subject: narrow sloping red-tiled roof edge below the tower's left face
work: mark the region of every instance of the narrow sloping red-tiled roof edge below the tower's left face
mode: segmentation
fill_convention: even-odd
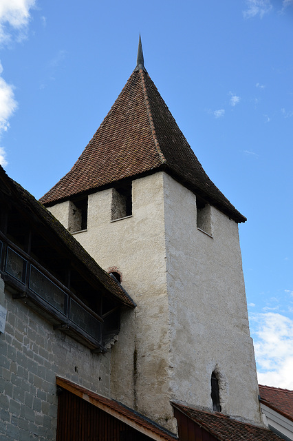
[[[135,412],[133,409],[129,409],[129,407],[124,406],[124,404],[116,400],[100,396],[98,393],[94,393],[76,383],[65,380],[65,378],[56,377],[56,384],[57,386],[63,387],[63,389],[74,393],[74,395],[83,398],[83,400],[90,402],[99,409],[110,413],[112,416],[118,418],[118,420],[129,424],[133,429],[144,433],[144,435],[147,435],[154,440],[178,441],[175,434],[149,420],[149,418],[140,415],[140,413]]]

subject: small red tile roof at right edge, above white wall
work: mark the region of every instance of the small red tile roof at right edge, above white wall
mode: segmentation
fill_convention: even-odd
[[[261,402],[293,421],[293,391],[259,384]]]

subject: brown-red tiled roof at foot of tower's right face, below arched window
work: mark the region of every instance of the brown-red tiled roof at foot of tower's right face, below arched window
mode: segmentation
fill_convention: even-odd
[[[263,427],[233,420],[223,413],[209,413],[192,407],[171,403],[199,427],[220,441],[280,441],[278,435]]]

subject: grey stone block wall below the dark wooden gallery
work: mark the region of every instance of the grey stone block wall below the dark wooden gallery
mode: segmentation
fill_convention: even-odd
[[[91,353],[3,289],[0,278],[1,305],[8,310],[0,334],[0,439],[54,441],[56,376],[110,396],[109,353]]]

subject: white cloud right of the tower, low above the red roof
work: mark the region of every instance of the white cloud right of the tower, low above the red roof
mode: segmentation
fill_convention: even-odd
[[[250,316],[260,384],[293,389],[293,320],[268,312]]]

